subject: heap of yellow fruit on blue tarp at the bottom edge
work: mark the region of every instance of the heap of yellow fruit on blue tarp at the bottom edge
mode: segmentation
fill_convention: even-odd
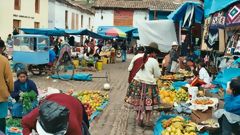
[[[180,116],[163,120],[162,126],[161,135],[197,135],[197,125]]]

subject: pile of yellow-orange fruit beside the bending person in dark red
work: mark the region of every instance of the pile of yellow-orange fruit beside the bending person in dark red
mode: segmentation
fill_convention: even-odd
[[[88,114],[89,120],[93,119],[95,112],[101,112],[108,103],[108,95],[100,91],[83,91],[77,94],[77,98],[82,102]]]

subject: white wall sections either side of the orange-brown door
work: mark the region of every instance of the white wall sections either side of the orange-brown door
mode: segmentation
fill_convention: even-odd
[[[101,19],[103,16],[103,19]],[[137,22],[148,20],[148,11],[135,10],[133,13],[133,27],[136,27]],[[94,31],[97,31],[98,26],[113,26],[114,25],[114,10],[96,10],[94,18]]]

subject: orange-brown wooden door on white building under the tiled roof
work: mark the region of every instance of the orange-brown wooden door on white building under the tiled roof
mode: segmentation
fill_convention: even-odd
[[[132,26],[133,10],[114,10],[114,26]]]

